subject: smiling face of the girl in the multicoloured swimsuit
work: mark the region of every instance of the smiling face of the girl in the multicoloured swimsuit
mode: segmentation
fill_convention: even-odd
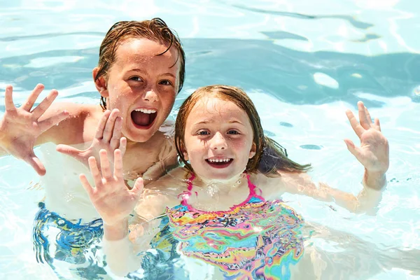
[[[195,174],[205,179],[230,179],[246,169],[255,155],[248,116],[232,102],[217,97],[197,102],[186,121],[186,151]]]

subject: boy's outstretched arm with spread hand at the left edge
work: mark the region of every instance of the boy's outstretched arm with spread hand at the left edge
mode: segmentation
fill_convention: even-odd
[[[40,175],[45,174],[45,167],[34,154],[34,146],[49,141],[55,144],[83,143],[85,137],[92,138],[85,126],[95,127],[97,118],[96,106],[53,104],[57,90],[52,90],[34,107],[43,88],[41,84],[36,85],[27,101],[16,108],[12,98],[13,88],[6,87],[6,112],[0,119],[0,156],[10,154],[25,160]]]

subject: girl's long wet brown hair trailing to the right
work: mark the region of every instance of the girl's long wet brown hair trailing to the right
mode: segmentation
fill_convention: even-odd
[[[175,147],[180,159],[186,167],[193,172],[193,167],[185,159],[183,151],[185,148],[186,121],[191,110],[200,99],[204,97],[216,97],[225,101],[233,102],[242,109],[251,123],[253,130],[253,143],[256,152],[253,158],[248,160],[246,172],[260,172],[267,176],[279,176],[283,172],[307,172],[311,165],[299,165],[290,160],[285,148],[280,146],[273,139],[264,136],[260,116],[248,95],[239,87],[228,85],[209,85],[195,90],[181,105],[175,123]]]

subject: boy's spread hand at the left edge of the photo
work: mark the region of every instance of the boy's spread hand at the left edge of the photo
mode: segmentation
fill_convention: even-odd
[[[41,176],[45,174],[45,167],[34,153],[36,139],[69,116],[66,111],[57,111],[50,118],[40,120],[58,94],[57,90],[51,90],[48,96],[31,110],[43,89],[43,85],[36,85],[27,101],[16,108],[12,98],[13,87],[8,85],[4,98],[6,112],[0,120],[0,147],[10,155],[25,160]]]

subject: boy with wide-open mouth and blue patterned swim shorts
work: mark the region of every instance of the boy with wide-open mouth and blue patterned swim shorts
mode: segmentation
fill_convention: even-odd
[[[39,260],[52,267],[55,259],[83,263],[90,259],[87,249],[102,237],[102,221],[78,179],[90,155],[101,148],[127,149],[127,181],[138,176],[155,180],[178,165],[172,139],[162,127],[184,75],[185,54],[178,36],[155,18],[117,22],[109,29],[92,71],[100,105],[52,103],[58,94],[52,90],[34,106],[43,90],[37,85],[16,108],[13,89],[6,87],[0,155],[25,160],[43,176],[45,202],[34,225]],[[42,162],[34,154],[34,146],[41,144]]]

